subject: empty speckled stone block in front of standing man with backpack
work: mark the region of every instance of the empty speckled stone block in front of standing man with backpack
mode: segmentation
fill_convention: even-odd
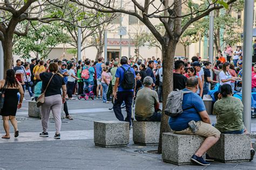
[[[122,147],[129,143],[129,122],[95,121],[94,143],[102,147]]]

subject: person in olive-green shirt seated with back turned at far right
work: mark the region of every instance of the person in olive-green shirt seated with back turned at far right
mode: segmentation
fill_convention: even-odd
[[[213,115],[217,115],[217,123],[214,126],[224,134],[247,134],[248,131],[242,122],[244,105],[239,98],[233,97],[232,94],[230,84],[220,87],[219,100],[214,103],[213,107]],[[251,160],[253,160],[254,154],[255,151],[251,144]]]

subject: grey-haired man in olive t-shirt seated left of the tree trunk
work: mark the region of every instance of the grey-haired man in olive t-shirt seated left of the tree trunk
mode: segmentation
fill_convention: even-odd
[[[135,100],[135,118],[137,121],[160,122],[159,101],[157,92],[152,90],[153,79],[150,76],[144,78],[144,88],[140,89]]]

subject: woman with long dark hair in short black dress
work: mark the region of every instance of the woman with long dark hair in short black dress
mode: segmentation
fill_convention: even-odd
[[[4,139],[10,139],[9,133],[9,120],[12,126],[14,126],[14,137],[19,136],[17,120],[15,118],[17,109],[22,107],[22,100],[24,97],[24,91],[21,83],[16,80],[15,71],[13,69],[8,69],[6,71],[5,80],[0,81],[0,91],[4,92],[4,103],[3,108],[0,109],[0,115],[3,116],[3,124],[5,135],[2,136]],[[17,93],[21,94],[18,101]]]

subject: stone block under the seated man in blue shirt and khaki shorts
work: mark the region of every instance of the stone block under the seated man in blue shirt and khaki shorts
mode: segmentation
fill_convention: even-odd
[[[197,152],[204,139],[198,135],[163,133],[162,158],[164,162],[175,165],[192,164],[191,157]]]

